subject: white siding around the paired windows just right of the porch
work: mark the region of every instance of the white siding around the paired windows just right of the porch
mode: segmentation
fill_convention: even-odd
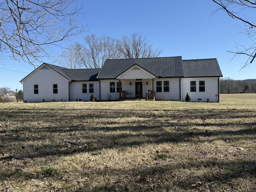
[[[162,82],[162,92],[156,92],[156,82]],[[169,92],[164,92],[164,81],[169,81]],[[156,100],[180,100],[180,78],[154,79],[154,90]]]

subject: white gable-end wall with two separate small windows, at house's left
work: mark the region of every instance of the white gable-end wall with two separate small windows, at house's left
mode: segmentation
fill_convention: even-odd
[[[38,94],[34,85],[38,84]],[[53,94],[53,84],[58,84],[58,94]],[[68,101],[68,79],[48,67],[33,72],[23,80],[24,101]]]

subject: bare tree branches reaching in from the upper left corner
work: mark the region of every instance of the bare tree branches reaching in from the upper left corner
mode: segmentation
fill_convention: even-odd
[[[50,56],[49,46],[86,30],[76,22],[76,0],[1,0],[0,58],[33,65]]]

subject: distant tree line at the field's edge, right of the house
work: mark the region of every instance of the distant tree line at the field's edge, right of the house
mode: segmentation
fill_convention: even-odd
[[[220,78],[220,93],[256,93],[256,79]]]

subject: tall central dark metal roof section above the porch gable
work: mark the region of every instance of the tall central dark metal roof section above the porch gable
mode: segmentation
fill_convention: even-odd
[[[106,60],[99,72],[99,79],[114,79],[134,64],[142,67],[156,77],[183,76],[182,57],[137,58]]]

